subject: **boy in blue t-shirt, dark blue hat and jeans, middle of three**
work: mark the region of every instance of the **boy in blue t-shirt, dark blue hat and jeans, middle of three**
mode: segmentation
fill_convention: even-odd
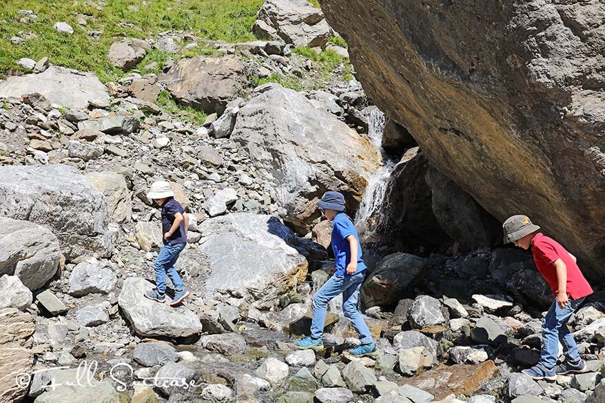
[[[342,293],[342,311],[357,331],[361,345],[349,350],[350,355],[362,357],[376,355],[378,350],[370,331],[357,308],[359,289],[365,277],[365,263],[359,237],[351,219],[345,214],[345,197],[338,192],[326,192],[317,203],[322,214],[332,222],[332,249],[336,259],[334,276],[317,291],[313,299],[313,320],[311,335],[298,340],[299,349],[323,347],[322,333],[328,302]]]

